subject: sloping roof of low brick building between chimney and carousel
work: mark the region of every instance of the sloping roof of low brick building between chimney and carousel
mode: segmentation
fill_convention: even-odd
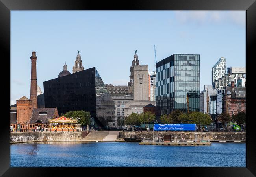
[[[29,123],[35,124],[39,120],[43,124],[46,124],[48,119],[54,118],[55,111],[56,108],[34,108]],[[44,114],[39,114],[40,112]]]

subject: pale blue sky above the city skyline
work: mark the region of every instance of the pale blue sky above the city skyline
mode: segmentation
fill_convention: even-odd
[[[96,67],[105,84],[127,85],[134,51],[155,70],[174,53],[200,54],[200,91],[211,67],[245,67],[245,11],[11,11],[10,105],[30,98],[31,52],[37,84],[72,73],[77,50],[85,69]]]

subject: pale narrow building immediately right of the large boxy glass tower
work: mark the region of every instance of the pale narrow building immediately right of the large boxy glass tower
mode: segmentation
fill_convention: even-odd
[[[210,96],[217,95],[217,89],[213,89],[212,85],[204,85],[204,90],[200,93],[200,112],[207,113],[207,96],[210,101]],[[208,102],[208,113],[209,113],[209,102]]]

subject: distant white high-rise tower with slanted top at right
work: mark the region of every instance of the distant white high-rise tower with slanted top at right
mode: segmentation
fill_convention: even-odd
[[[226,74],[226,59],[221,57],[211,69],[212,83]]]

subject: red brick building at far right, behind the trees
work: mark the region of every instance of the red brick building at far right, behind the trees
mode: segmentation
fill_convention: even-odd
[[[234,81],[231,82],[231,87],[226,87],[224,112],[230,116],[246,112],[246,87],[235,87]]]

